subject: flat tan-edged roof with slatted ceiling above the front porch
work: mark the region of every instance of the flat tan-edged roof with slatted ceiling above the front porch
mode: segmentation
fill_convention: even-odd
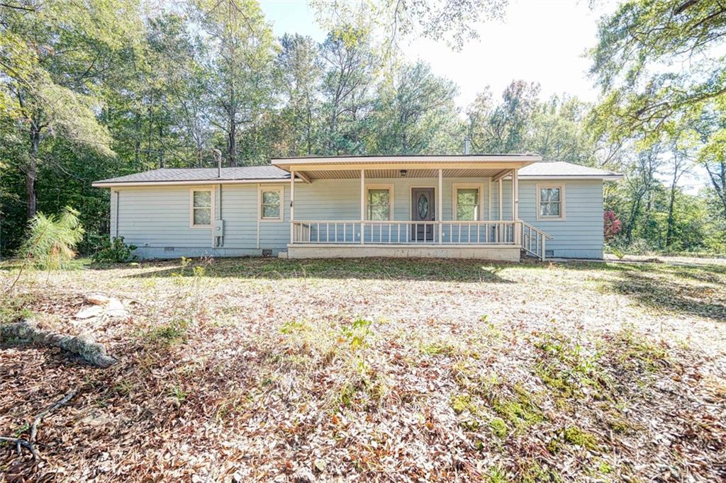
[[[272,160],[272,165],[303,178],[434,178],[439,169],[444,178],[489,177],[505,170],[523,168],[542,160],[534,154],[465,154],[417,156],[330,156],[292,157]]]

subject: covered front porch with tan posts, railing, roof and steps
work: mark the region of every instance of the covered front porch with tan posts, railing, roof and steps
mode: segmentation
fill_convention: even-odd
[[[538,160],[526,154],[273,160],[292,175],[287,255],[516,261],[525,250],[544,260],[549,236],[518,218],[518,169]]]

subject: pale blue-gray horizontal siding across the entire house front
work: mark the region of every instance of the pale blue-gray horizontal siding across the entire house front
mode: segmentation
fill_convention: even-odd
[[[483,219],[497,220],[498,183],[488,178],[445,178],[443,220],[452,220],[452,189],[456,183],[481,183]],[[550,234],[547,249],[555,257],[600,258],[603,255],[602,181],[563,181],[566,184],[566,220],[537,221],[536,181],[520,181],[520,218]],[[393,186],[393,220],[410,220],[412,187],[438,189],[438,178],[370,178],[366,185]],[[224,220],[224,247],[213,247],[211,228],[189,226],[189,186],[117,188],[111,191],[112,236],[138,247],[147,258],[180,256],[258,256],[287,250],[290,241],[290,183],[281,186],[283,220],[258,220],[258,184],[216,185],[215,218]],[[492,192],[489,193],[491,188]],[[221,190],[221,191],[220,191]],[[118,191],[118,218],[116,192]],[[439,201],[438,193],[435,194]],[[221,202],[220,202],[221,199]],[[491,202],[491,207],[489,206]],[[502,182],[502,219],[511,219],[511,183]],[[221,207],[221,212],[219,212]],[[491,215],[491,218],[489,218]],[[359,220],[360,180],[317,180],[295,183],[295,220]],[[118,225],[117,225],[118,223]],[[118,233],[116,231],[118,226]]]

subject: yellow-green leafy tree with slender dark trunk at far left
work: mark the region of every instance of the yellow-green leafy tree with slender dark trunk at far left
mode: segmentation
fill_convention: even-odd
[[[25,131],[26,215],[37,211],[39,150],[46,136],[65,136],[110,155],[110,136],[97,122],[97,81],[113,53],[133,44],[139,26],[134,0],[70,0],[2,4],[0,112]]]

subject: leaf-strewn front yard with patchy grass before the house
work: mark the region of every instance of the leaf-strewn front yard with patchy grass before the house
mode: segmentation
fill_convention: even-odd
[[[17,267],[0,265],[2,286]],[[127,318],[76,320],[86,296]],[[726,478],[726,264],[192,260],[25,273],[0,481]]]

